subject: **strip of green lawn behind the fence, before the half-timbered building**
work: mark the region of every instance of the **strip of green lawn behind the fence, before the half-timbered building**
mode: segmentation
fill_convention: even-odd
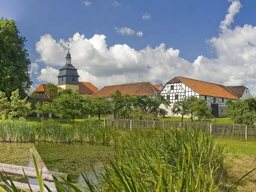
[[[166,117],[164,119],[160,119],[161,121],[181,121],[181,117]],[[183,121],[191,121],[190,118],[183,118]],[[194,121],[198,122],[197,119],[194,119]],[[201,123],[225,123],[230,124],[233,123],[233,121],[228,117],[219,117],[215,119],[202,119]]]

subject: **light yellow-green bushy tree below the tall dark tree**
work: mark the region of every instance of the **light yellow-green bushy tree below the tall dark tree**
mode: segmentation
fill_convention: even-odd
[[[31,113],[31,103],[27,102],[28,97],[20,99],[19,89],[12,91],[12,96],[10,97],[10,113],[9,119],[12,117],[26,117]]]

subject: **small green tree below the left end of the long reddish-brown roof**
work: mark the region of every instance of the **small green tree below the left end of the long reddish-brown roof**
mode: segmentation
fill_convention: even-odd
[[[92,113],[98,115],[100,121],[100,115],[108,115],[111,113],[110,101],[104,97],[92,99]]]

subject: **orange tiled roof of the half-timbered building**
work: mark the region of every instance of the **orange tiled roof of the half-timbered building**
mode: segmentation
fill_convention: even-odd
[[[176,76],[167,83],[182,82],[199,95],[209,95],[212,97],[223,97],[230,99],[238,99],[238,97],[232,93],[226,86],[216,83],[209,83],[206,81],[199,81],[196,79],[189,79],[186,77]]]

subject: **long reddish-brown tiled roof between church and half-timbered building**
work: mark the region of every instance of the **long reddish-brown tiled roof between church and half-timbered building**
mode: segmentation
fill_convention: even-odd
[[[97,91],[96,93],[92,94],[90,97],[110,97],[110,95],[114,94],[116,90],[119,90],[122,93],[122,95],[129,94],[131,96],[156,96],[160,92],[150,82],[138,82],[105,86],[102,89],[100,89],[100,91]]]

